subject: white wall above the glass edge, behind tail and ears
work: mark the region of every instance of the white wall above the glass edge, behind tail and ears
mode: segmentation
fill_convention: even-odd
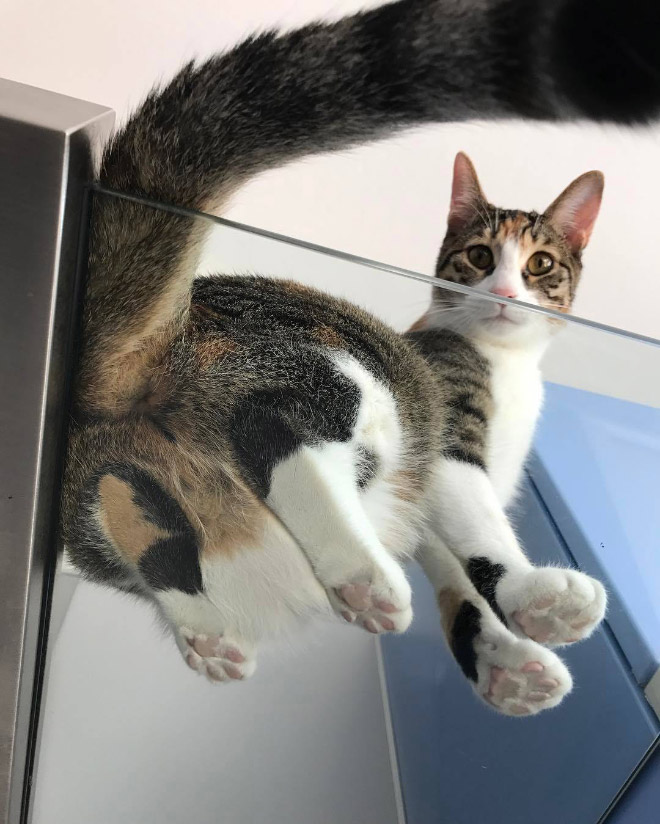
[[[255,28],[339,16],[359,0],[0,0],[0,76],[105,103],[124,117],[155,79]],[[451,161],[468,151],[489,197],[543,208],[601,168],[603,212],[577,311],[660,337],[660,132],[601,127],[425,128],[377,147],[308,159],[246,187],[236,220],[430,272]]]

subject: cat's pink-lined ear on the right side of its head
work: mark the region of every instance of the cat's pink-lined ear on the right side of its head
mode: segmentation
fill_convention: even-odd
[[[584,249],[598,217],[605,178],[586,172],[574,180],[545,210],[545,217],[568,241],[574,254]]]

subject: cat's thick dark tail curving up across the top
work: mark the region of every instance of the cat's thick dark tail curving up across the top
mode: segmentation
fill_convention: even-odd
[[[217,210],[306,154],[429,122],[645,121],[660,109],[656,0],[402,0],[189,64],[114,137],[101,184]],[[185,315],[203,223],[99,196],[79,400],[122,413]]]

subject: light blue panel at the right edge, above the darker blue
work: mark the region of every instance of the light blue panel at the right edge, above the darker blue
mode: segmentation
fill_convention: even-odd
[[[660,409],[546,384],[529,473],[642,686],[660,666]]]

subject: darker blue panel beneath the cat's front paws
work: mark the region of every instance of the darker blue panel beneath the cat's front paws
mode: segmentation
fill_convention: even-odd
[[[566,564],[531,484],[519,511],[532,559]],[[411,573],[413,625],[381,642],[408,824],[596,824],[658,734],[608,630],[562,651],[576,686],[560,707],[506,718],[473,695]]]

